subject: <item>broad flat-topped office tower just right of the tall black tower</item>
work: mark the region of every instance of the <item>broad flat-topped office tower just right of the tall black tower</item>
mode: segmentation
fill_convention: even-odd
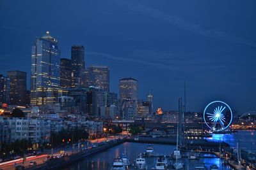
[[[86,70],[84,83],[87,86],[99,87],[109,92],[109,68],[107,66],[90,66]]]

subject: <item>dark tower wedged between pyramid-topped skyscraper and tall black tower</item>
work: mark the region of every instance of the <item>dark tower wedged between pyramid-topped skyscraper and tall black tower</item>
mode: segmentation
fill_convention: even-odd
[[[71,66],[72,64],[70,59],[60,59],[60,87],[71,87]]]

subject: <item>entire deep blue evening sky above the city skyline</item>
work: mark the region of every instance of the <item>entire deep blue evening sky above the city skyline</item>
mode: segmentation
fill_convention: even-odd
[[[253,111],[255,7],[255,0],[0,0],[0,74],[20,70],[29,78],[31,46],[50,31],[61,57],[84,45],[86,66],[109,66],[111,91],[120,78],[136,78],[140,99],[151,90],[155,109],[177,110],[186,81],[189,111],[212,100]]]

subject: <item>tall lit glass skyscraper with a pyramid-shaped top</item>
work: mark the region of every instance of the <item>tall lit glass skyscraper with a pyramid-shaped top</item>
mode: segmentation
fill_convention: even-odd
[[[49,31],[36,38],[31,55],[31,105],[57,102],[60,90],[60,50]]]

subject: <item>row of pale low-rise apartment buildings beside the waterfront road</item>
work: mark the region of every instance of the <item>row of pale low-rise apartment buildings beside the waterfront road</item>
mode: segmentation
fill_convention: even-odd
[[[52,132],[62,129],[79,127],[87,131],[90,136],[102,134],[103,122],[86,119],[61,119],[44,117],[3,118],[0,117],[0,143],[12,143],[16,140],[27,139],[31,143],[49,141]],[[52,114],[53,115],[53,114]]]

